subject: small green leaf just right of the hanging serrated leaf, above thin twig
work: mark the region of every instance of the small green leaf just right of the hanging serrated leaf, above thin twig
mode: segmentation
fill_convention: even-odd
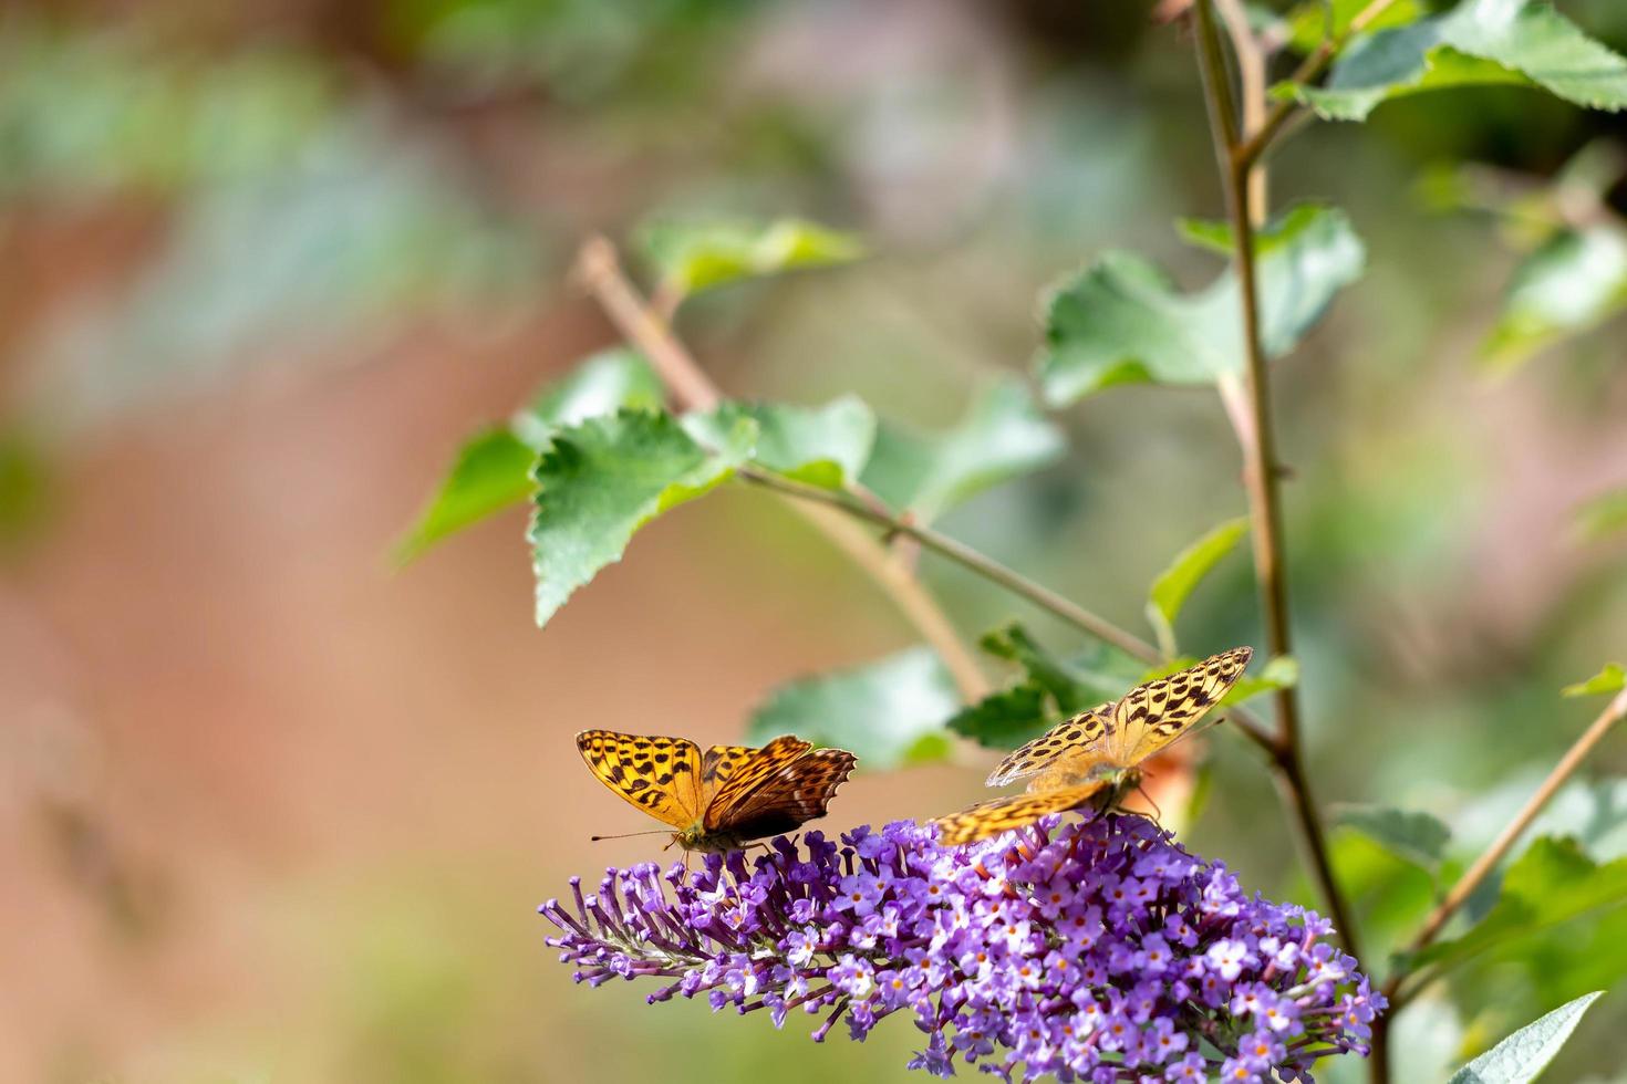
[[[742,418],[757,424],[755,465],[827,489],[856,481],[875,444],[875,414],[851,395],[825,406],[724,403],[708,414],[687,416],[685,427],[696,437],[729,434]]]

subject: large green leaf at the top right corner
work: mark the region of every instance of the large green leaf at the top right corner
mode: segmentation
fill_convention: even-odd
[[[1627,107],[1627,59],[1539,0],[1468,0],[1346,47],[1324,86],[1284,85],[1331,120],[1363,120],[1380,102],[1445,86],[1518,83],[1616,112]]]

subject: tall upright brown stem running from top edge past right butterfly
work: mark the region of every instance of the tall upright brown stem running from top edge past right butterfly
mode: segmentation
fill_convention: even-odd
[[[1243,309],[1243,348],[1246,366],[1246,416],[1248,426],[1238,426],[1243,447],[1245,484],[1248,489],[1250,531],[1254,546],[1254,572],[1259,580],[1261,608],[1266,618],[1266,642],[1272,658],[1292,653],[1289,624],[1287,577],[1282,559],[1282,504],[1279,497],[1280,468],[1277,465],[1276,432],[1271,419],[1271,384],[1266,367],[1266,351],[1259,332],[1258,275],[1254,265],[1254,213],[1250,208],[1250,177],[1253,159],[1238,154],[1241,137],[1238,117],[1233,112],[1232,85],[1225,70],[1225,52],[1215,26],[1214,0],[1197,0],[1197,65],[1202,73],[1204,102],[1209,111],[1210,132],[1215,140],[1215,159],[1220,166],[1225,189],[1227,216],[1232,223],[1235,271]],[[1263,86],[1263,80],[1259,81]],[[1263,190],[1263,189],[1261,189]],[[1258,208],[1263,215],[1264,208]],[[1316,881],[1318,891],[1329,910],[1329,918],[1339,931],[1339,939],[1350,956],[1360,959],[1360,934],[1354,915],[1334,878],[1328,855],[1328,835],[1321,808],[1311,791],[1310,777],[1300,743],[1300,713],[1297,686],[1276,691],[1277,733],[1272,741],[1274,767],[1284,801],[1293,813],[1300,842]]]

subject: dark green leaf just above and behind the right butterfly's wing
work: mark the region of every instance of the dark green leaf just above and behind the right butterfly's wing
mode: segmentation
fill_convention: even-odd
[[[1017,622],[986,632],[978,645],[1022,668],[1017,684],[963,707],[949,728],[984,746],[1014,749],[1067,715],[1118,699],[1134,683],[1126,657],[1100,645],[1080,660],[1061,660]]]

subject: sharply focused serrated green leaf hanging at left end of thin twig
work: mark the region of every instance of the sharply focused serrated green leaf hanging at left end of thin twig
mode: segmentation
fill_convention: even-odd
[[[623,410],[560,429],[537,462],[530,522],[537,624],[615,561],[639,527],[734,475],[757,423],[740,418],[714,447],[667,414]]]

